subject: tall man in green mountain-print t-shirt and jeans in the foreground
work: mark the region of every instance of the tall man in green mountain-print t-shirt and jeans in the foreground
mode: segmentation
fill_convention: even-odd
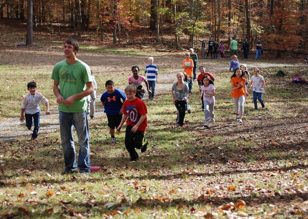
[[[59,123],[64,154],[64,174],[77,172],[73,126],[80,149],[78,168],[90,173],[89,124],[86,96],[94,91],[90,67],[76,58],[79,44],[75,39],[64,43],[65,60],[58,62],[52,71],[53,92],[59,104]]]

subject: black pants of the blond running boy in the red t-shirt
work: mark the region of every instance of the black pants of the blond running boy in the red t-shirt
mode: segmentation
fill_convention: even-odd
[[[125,147],[131,158],[138,158],[136,149],[141,149],[146,144],[146,139],[144,138],[144,132],[137,130],[137,132],[132,133],[132,125],[128,125],[125,130]]]

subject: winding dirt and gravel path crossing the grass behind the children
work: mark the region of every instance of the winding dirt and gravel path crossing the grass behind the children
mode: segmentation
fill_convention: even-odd
[[[12,58],[14,56],[14,58]],[[119,71],[130,71],[130,66],[139,65],[144,66],[145,60],[147,57],[142,56],[121,56],[121,55],[98,55],[98,54],[80,54],[78,58],[84,62],[86,62],[93,71],[95,72],[105,72],[108,70],[111,74],[118,73]],[[124,59],[123,59],[124,58]],[[172,72],[167,72],[159,75],[159,82],[156,85],[155,92],[156,94],[162,92],[169,92],[169,88],[172,86],[172,83],[175,81],[175,73],[181,72],[182,68],[179,66],[179,63],[182,62],[183,58],[181,57],[170,57],[167,56],[158,56],[154,57],[155,63],[158,63],[159,69],[164,67],[171,67],[173,69]],[[7,50],[3,51],[0,55],[0,60],[2,63],[11,64],[11,65],[30,65],[37,68],[48,68],[52,71],[53,65],[61,60],[63,60],[62,53],[54,53],[54,52],[37,52],[37,51],[16,51],[16,50]],[[198,65],[205,65],[207,71],[211,73],[221,72],[224,70],[228,70],[229,61],[225,59],[225,63],[215,62],[215,60],[199,60]],[[248,68],[258,67],[283,67],[283,66],[292,66],[292,64],[275,64],[275,63],[255,63],[252,61],[246,61]],[[143,71],[143,67],[141,67]],[[158,69],[158,70],[159,70]],[[120,86],[120,89],[124,89],[125,85]],[[195,85],[194,85],[195,86]],[[98,94],[99,95],[99,94]],[[147,95],[144,96],[147,98]],[[53,97],[50,97],[53,98]],[[100,100],[96,98],[97,104],[100,104]],[[103,109],[99,108],[96,110],[95,116],[101,117],[103,115]],[[41,112],[41,127],[40,133],[49,133],[54,132],[59,128],[58,121],[58,111],[53,110],[51,115],[45,115],[44,112]],[[12,131],[13,130],[13,131]],[[7,119],[0,124],[0,140],[3,141],[12,141],[16,138],[22,136],[29,136],[32,133],[31,130],[27,130],[25,124],[21,124],[18,118]]]

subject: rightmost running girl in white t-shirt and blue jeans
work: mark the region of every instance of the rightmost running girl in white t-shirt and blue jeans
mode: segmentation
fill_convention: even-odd
[[[251,77],[251,82],[250,82],[250,91],[252,88],[252,93],[253,93],[253,103],[255,105],[255,110],[258,109],[257,105],[257,98],[258,101],[261,103],[262,108],[265,107],[264,101],[262,99],[262,94],[264,93],[264,78],[263,76],[259,75],[260,71],[258,68],[255,68],[253,70],[254,76]]]

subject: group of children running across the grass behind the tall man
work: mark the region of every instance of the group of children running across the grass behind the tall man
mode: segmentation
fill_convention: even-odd
[[[190,50],[194,54],[193,50]],[[184,127],[185,112],[191,112],[188,106],[188,98],[191,95],[192,79],[194,61],[190,59],[191,53],[185,53],[185,60],[183,60],[182,67],[184,72],[178,73],[177,81],[173,83],[171,87],[172,101],[175,105],[178,113],[176,118],[176,126]],[[140,149],[141,152],[145,152],[147,149],[148,141],[145,139],[145,131],[147,127],[147,108],[145,103],[141,100],[145,89],[141,83],[144,82],[146,90],[149,94],[149,99],[154,99],[155,85],[158,82],[158,70],[157,66],[153,64],[153,57],[148,58],[149,65],[146,66],[144,76],[139,75],[140,69],[138,66],[132,67],[133,75],[129,77],[129,85],[125,87],[125,94],[115,89],[114,82],[111,80],[106,81],[104,92],[100,98],[102,105],[104,106],[104,112],[107,115],[109,133],[111,135],[111,143],[116,142],[115,130],[120,132],[124,122],[126,121],[125,131],[125,147],[130,154],[131,161],[137,161],[139,155],[135,149]],[[235,57],[234,61],[238,61]],[[246,90],[246,77],[249,76],[246,65],[232,66],[234,73],[231,76],[231,96],[233,97],[236,119],[239,123],[242,123],[242,116],[244,113],[245,96],[249,96]],[[199,67],[200,74],[197,77],[198,85],[200,87],[199,98],[202,102],[202,110],[204,111],[205,123],[204,127],[209,128],[209,123],[215,123],[215,77],[206,72],[204,66]],[[246,72],[245,72],[246,71]],[[249,78],[250,90],[253,90],[253,100],[255,109],[257,109],[257,99],[264,108],[264,102],[262,99],[262,93],[264,92],[264,78],[259,75],[259,69],[254,69],[254,76]],[[92,73],[92,72],[91,72]],[[145,75],[147,74],[147,80]],[[94,76],[92,76],[94,79]],[[96,85],[96,82],[95,82]],[[32,138],[35,139],[38,136],[38,130],[40,128],[40,103],[43,101],[46,105],[46,114],[50,115],[48,100],[38,91],[36,91],[36,83],[29,82],[27,85],[29,93],[24,96],[24,100],[21,105],[21,117],[20,121],[26,121],[26,127],[30,130],[34,124]],[[97,86],[96,86],[97,88]],[[96,89],[95,89],[96,90]],[[91,102],[95,102],[96,95],[90,96]],[[90,107],[91,109],[91,107]],[[94,105],[95,109],[95,105]],[[24,116],[25,113],[25,116]],[[94,114],[94,112],[93,112]],[[90,110],[90,117],[93,116]],[[93,118],[93,117],[91,117]]]

